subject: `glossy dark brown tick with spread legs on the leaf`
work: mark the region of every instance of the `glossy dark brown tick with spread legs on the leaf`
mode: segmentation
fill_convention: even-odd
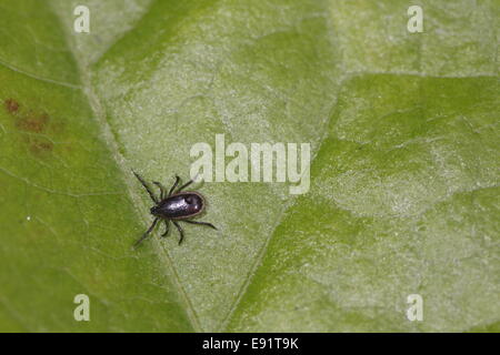
[[[140,243],[142,243],[142,241],[149,235],[149,233],[151,233],[151,231],[160,220],[164,222],[166,227],[161,236],[167,236],[167,234],[169,233],[170,221],[172,221],[173,225],[176,225],[180,234],[179,245],[184,239],[184,231],[179,225],[179,222],[208,225],[217,230],[217,227],[211,223],[188,220],[200,214],[204,209],[204,197],[200,193],[194,191],[182,191],[190,184],[192,184],[193,180],[188,181],[186,184],[176,190],[180,182],[180,178],[176,176],[176,182],[173,183],[172,187],[170,187],[168,194],[166,193],[167,190],[161,183],[159,183],[158,181],[153,181],[153,184],[156,184],[160,189],[160,199],[158,199],[157,195],[148,186],[146,181],[134,171],[132,172],[141,182],[142,186],[144,186],[146,191],[148,191],[151,200],[154,202],[154,206],[152,206],[150,210],[151,214],[154,216],[154,221],[152,222],[148,231],[146,231],[146,233],[136,242],[136,244],[133,244],[133,246],[138,246]]]

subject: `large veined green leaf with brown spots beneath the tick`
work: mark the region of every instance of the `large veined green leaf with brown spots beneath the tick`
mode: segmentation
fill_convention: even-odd
[[[419,4],[3,1],[0,329],[500,331],[497,3]],[[311,143],[310,191],[207,182],[219,231],[132,250],[131,169],[218,133]]]

